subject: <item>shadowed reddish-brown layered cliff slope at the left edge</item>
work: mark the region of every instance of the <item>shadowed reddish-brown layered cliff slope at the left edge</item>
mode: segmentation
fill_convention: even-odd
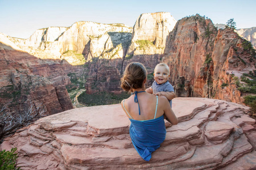
[[[55,79],[53,78],[52,72],[56,70],[51,69],[51,65],[55,64],[51,61],[44,63],[20,50],[1,34],[1,107],[10,102],[9,108],[12,111],[23,112],[30,107],[30,102],[32,102],[36,106],[41,105],[47,111],[46,114],[72,109],[71,99],[64,86],[70,80],[67,75],[67,80],[60,80],[61,73],[55,73]],[[57,70],[60,72],[61,69]]]

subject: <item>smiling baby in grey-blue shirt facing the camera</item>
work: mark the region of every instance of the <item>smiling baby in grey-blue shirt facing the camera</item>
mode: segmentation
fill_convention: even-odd
[[[146,92],[154,95],[163,95],[169,100],[172,107],[172,99],[174,99],[174,87],[168,82],[170,69],[165,63],[159,63],[154,70],[154,83],[146,89]]]

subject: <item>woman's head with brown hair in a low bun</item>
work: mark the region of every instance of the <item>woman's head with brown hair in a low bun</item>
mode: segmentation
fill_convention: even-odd
[[[121,78],[121,87],[125,91],[133,92],[133,89],[144,88],[147,78],[147,70],[142,63],[132,62],[125,68]]]

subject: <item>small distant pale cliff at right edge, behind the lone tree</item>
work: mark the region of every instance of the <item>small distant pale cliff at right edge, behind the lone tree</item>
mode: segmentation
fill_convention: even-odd
[[[256,48],[256,27],[237,29],[236,32]]]

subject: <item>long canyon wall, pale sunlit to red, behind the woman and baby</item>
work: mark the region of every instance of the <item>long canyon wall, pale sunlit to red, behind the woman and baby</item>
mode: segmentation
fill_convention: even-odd
[[[176,96],[242,103],[233,76],[253,71],[255,64],[236,32],[217,30],[200,15],[176,22],[169,12],[156,12],[140,15],[133,30],[124,24],[77,22],[68,28],[39,29],[27,40],[10,39],[36,57],[55,59],[46,68],[42,63],[32,64],[34,73],[47,73],[56,84],[69,84],[67,74],[76,74],[89,94],[121,92],[119,79],[130,62],[146,66],[149,87],[155,65],[165,62]],[[63,69],[56,71],[59,67]]]

